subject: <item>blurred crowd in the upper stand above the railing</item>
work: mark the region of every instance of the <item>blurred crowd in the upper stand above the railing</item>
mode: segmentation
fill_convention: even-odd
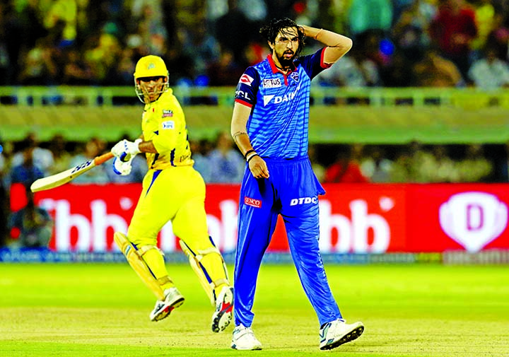
[[[321,85],[489,90],[509,84],[508,14],[508,0],[8,0],[0,85],[132,85],[150,53],[172,86],[235,86],[269,53],[260,25],[288,16],[353,39]]]

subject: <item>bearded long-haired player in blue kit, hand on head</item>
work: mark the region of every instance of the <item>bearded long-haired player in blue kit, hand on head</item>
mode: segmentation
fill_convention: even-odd
[[[298,276],[320,322],[320,349],[334,349],[361,336],[364,326],[346,324],[320,256],[318,195],[325,192],[308,158],[310,85],[349,51],[352,42],[289,18],[271,21],[260,33],[271,54],[240,78],[231,122],[233,139],[247,161],[240,189],[231,347],[262,349],[251,329],[254,291],[281,215]],[[305,37],[325,46],[299,57]]]

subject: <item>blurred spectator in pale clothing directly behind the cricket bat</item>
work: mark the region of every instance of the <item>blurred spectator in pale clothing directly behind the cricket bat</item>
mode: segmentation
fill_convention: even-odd
[[[76,153],[71,158],[71,167],[86,162],[105,152],[106,143],[98,137],[88,140],[83,151]],[[76,177],[73,184],[105,184],[110,182],[107,170],[113,170],[110,165],[99,165],[98,167]]]

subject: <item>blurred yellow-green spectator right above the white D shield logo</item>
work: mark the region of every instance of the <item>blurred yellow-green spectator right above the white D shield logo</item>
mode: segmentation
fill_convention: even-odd
[[[457,162],[459,182],[488,182],[493,163],[484,155],[484,146],[469,144],[464,158]]]

